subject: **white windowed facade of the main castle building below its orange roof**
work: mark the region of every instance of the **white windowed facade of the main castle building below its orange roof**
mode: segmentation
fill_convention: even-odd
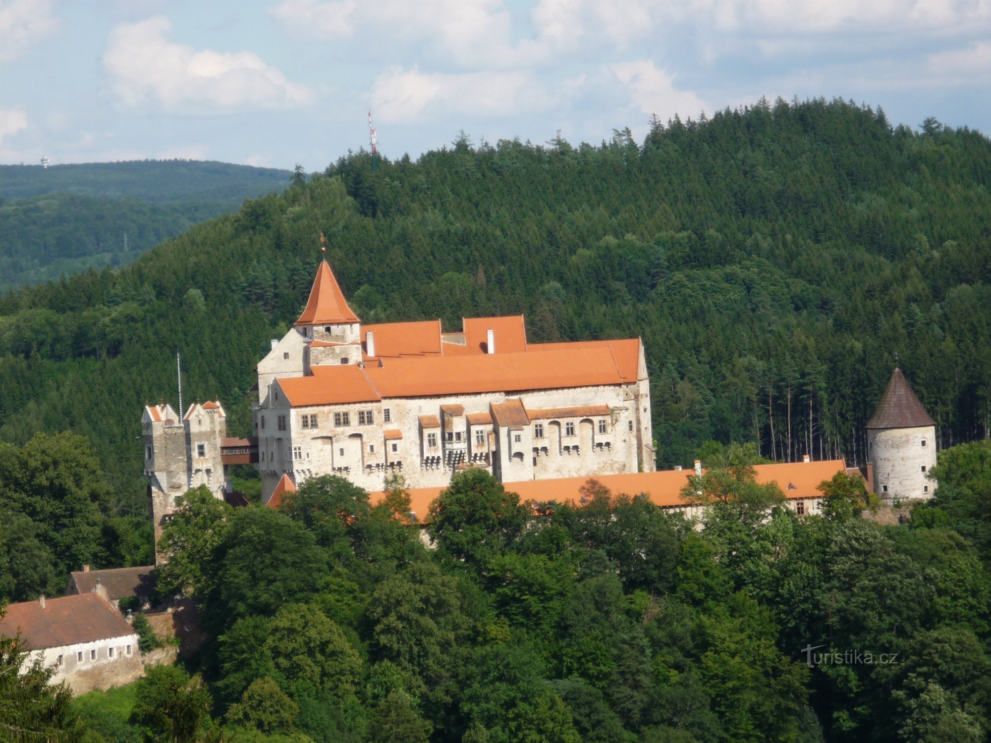
[[[638,448],[642,437],[649,436],[650,419],[649,396],[642,393],[639,384],[291,408],[284,394],[275,394],[276,382],[266,405],[256,411],[263,496],[269,497],[283,473],[291,473],[297,484],[306,478],[337,474],[369,490],[383,489],[385,478],[393,474],[401,475],[408,487],[443,486],[466,462],[490,471],[495,464],[495,476],[504,481],[635,473],[641,467]],[[605,404],[611,409],[605,417],[607,432],[599,433],[599,417],[533,421],[519,432],[467,422],[468,414],[489,413],[490,403],[517,397],[529,409]],[[458,404],[466,413],[454,419],[455,425],[463,426],[458,431],[461,441],[448,442],[443,426],[421,430],[419,416],[435,415],[443,422],[441,406]],[[643,406],[646,415],[642,414]],[[371,413],[371,424],[361,422],[362,412]],[[347,413],[349,424],[335,426],[335,413]],[[309,426],[308,416],[314,414],[316,428]],[[285,420],[283,431],[278,430],[280,416]],[[305,428],[302,416],[307,416]],[[565,434],[567,423],[574,424],[573,436]],[[542,440],[534,438],[534,424],[543,426]],[[402,438],[386,441],[385,430],[398,430]],[[477,431],[484,434],[482,446],[476,444]],[[429,433],[437,434],[435,450],[428,447]],[[513,433],[520,434],[519,442],[513,440]],[[395,452],[391,451],[393,444]],[[652,455],[642,467],[653,469]]]

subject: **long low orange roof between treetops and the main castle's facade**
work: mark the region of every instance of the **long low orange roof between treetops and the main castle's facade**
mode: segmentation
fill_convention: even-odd
[[[761,484],[777,482],[788,498],[816,498],[823,493],[816,489],[820,482],[836,473],[845,472],[842,460],[826,462],[792,462],[778,465],[757,465],[756,480]],[[520,500],[581,503],[579,491],[582,485],[595,478],[613,494],[646,494],[654,505],[661,507],[684,506],[681,490],[694,475],[692,470],[664,470],[656,473],[630,473],[627,475],[592,475],[582,478],[527,479],[521,482],[504,482],[506,490],[515,492]],[[788,485],[794,485],[789,488]],[[443,487],[414,487],[408,490],[410,510],[421,522],[430,504],[440,495]],[[384,491],[372,493],[372,501],[378,503]]]

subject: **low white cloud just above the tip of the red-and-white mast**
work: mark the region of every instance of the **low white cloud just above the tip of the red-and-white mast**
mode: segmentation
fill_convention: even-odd
[[[410,122],[429,110],[445,114],[502,118],[522,109],[551,105],[530,76],[522,72],[447,74],[386,69],[372,86],[376,117],[385,123]]]

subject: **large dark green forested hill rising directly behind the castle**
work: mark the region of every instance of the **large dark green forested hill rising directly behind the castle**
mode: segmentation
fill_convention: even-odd
[[[0,437],[88,436],[144,508],[145,400],[220,397],[305,301],[317,235],[365,321],[523,312],[534,341],[642,336],[658,464],[704,442],[863,461],[896,355],[941,445],[987,434],[991,143],[835,101],[658,126],[642,146],[467,140],[341,159],[119,272],[0,301]],[[773,426],[773,437],[772,437]]]

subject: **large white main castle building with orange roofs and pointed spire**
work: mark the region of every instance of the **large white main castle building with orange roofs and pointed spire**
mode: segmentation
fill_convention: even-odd
[[[320,264],[295,326],[258,365],[263,500],[336,474],[447,484],[481,467],[502,481],[652,472],[639,339],[533,344],[522,316],[362,325]]]

